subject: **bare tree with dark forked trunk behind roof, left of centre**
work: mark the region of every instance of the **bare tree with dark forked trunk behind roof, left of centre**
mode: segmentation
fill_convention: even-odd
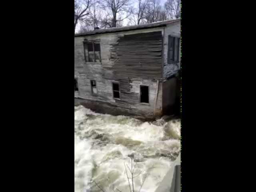
[[[132,14],[132,6],[130,0],[101,0],[102,9],[109,9],[112,13],[111,27],[120,25],[124,19],[128,18]],[[122,17],[126,14],[125,17]]]

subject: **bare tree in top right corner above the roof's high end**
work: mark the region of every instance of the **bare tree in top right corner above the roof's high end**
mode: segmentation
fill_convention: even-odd
[[[180,18],[180,0],[167,0],[164,4],[164,8],[170,19]]]

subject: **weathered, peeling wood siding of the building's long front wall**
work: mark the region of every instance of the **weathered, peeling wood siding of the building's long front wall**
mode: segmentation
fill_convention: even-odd
[[[154,115],[162,112],[163,28],[97,34],[75,38],[75,96],[99,100]],[[100,63],[85,62],[83,40],[100,40]],[[91,94],[90,80],[96,80],[97,96]],[[112,82],[120,83],[120,100],[113,98]],[[140,103],[140,85],[149,86],[149,104]],[[157,100],[156,94],[158,92]],[[156,103],[155,103],[156,102]]]

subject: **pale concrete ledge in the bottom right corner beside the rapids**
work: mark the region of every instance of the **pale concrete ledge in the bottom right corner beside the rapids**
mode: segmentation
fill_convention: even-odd
[[[155,192],[180,192],[180,154]]]

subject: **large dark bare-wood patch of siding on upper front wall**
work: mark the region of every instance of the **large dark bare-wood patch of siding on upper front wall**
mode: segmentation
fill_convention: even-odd
[[[121,37],[114,45],[118,60],[114,65],[117,80],[123,77],[162,78],[162,32]]]

